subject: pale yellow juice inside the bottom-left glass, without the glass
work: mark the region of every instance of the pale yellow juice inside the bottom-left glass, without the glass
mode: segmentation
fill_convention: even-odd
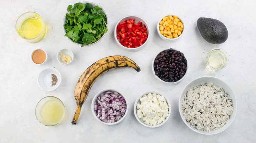
[[[49,100],[41,108],[42,123],[45,125],[55,125],[61,121],[65,109],[61,101]]]

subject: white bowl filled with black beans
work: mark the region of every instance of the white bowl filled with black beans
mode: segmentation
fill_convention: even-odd
[[[160,82],[177,84],[187,75],[187,59],[175,49],[166,49],[158,53],[152,61],[152,71]]]

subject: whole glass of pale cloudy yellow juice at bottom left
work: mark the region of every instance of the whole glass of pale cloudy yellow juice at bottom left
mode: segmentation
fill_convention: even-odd
[[[57,97],[47,96],[37,103],[35,116],[40,123],[46,126],[57,125],[65,116],[65,106]]]

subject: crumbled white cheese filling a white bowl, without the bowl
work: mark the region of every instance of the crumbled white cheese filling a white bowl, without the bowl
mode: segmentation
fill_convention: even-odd
[[[169,106],[163,96],[156,93],[148,93],[142,96],[137,103],[137,116],[145,124],[150,126],[159,125],[168,116]]]

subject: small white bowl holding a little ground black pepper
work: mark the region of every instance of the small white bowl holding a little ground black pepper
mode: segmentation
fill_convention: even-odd
[[[54,86],[52,86],[52,74],[55,74],[58,78],[58,81]],[[37,82],[39,87],[41,87],[42,89],[46,91],[52,91],[60,85],[60,82],[61,82],[60,72],[55,68],[46,68],[39,73]]]

